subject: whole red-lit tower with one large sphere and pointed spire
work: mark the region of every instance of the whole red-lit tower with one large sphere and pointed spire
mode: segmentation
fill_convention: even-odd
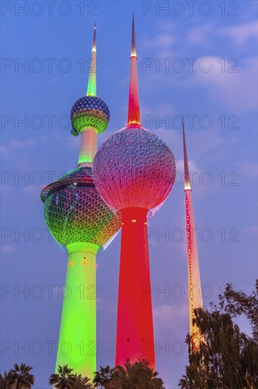
[[[147,213],[164,202],[176,177],[173,153],[140,123],[133,21],[128,121],[96,153],[94,182],[113,211],[121,211],[116,365],[144,357],[154,368]]]

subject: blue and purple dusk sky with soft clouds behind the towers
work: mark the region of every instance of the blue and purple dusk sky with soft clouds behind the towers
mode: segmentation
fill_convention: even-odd
[[[148,223],[156,370],[166,389],[188,364],[181,115],[204,305],[228,282],[250,293],[257,278],[257,1],[3,0],[0,372],[30,364],[35,389],[50,388],[54,373],[67,267],[40,192],[78,163],[69,115],[87,91],[95,21],[97,95],[111,112],[98,144],[124,127],[133,11],[142,124],[168,144],[178,171]],[[97,256],[97,366],[114,364],[120,243],[119,233]]]

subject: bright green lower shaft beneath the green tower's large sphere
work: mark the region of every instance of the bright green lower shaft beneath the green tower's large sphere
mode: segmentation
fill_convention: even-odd
[[[96,371],[96,254],[94,243],[70,243],[56,355],[59,366],[92,378]]]

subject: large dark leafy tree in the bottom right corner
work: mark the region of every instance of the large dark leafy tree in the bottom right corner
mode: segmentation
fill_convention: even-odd
[[[180,388],[190,389],[254,389],[258,388],[258,343],[254,336],[240,332],[233,317],[245,314],[253,328],[257,323],[254,292],[247,296],[227,285],[220,296],[219,308],[195,310],[193,323],[197,326],[199,347],[192,348],[188,334],[189,365],[179,382]],[[240,308],[240,301],[243,307]]]

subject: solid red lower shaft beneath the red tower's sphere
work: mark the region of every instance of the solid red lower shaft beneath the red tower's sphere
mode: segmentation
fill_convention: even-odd
[[[152,296],[145,208],[121,209],[122,238],[116,331],[116,366],[139,357],[155,365]]]

